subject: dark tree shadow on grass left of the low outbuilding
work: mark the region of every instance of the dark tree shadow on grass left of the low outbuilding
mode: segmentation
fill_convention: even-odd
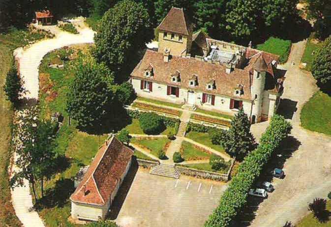
[[[38,199],[36,209],[63,207],[74,191],[73,180],[61,178],[55,183],[54,188],[46,190],[44,197]]]

